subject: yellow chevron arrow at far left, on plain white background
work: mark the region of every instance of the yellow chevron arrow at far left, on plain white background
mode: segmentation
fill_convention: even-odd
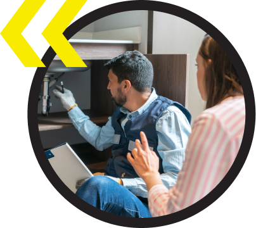
[[[22,32],[31,22],[46,0],[25,0],[16,13],[11,17],[0,35],[16,54],[25,67],[45,67],[39,56],[29,42],[23,37]]]

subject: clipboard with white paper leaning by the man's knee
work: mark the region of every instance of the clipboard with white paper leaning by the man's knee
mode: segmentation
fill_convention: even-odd
[[[80,179],[93,177],[90,170],[80,160],[68,143],[63,143],[55,148],[44,151],[51,167],[56,172],[61,181],[76,193],[75,184]]]

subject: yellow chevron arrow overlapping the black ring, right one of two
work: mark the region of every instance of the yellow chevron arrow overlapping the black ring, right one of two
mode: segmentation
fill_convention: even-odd
[[[63,35],[65,29],[74,20],[86,2],[87,0],[66,0],[56,15],[53,16],[51,22],[42,31],[44,39],[67,67],[87,67]]]

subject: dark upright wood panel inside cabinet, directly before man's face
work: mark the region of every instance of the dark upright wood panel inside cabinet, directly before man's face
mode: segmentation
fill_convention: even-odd
[[[91,109],[112,116],[117,106],[113,104],[108,86],[108,70],[104,67],[107,60],[93,60],[91,67]]]

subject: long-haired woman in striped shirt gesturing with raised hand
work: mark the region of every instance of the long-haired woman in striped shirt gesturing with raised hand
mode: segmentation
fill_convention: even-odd
[[[148,188],[153,217],[182,210],[201,200],[227,174],[240,149],[245,129],[245,100],[236,70],[219,44],[205,35],[196,56],[198,89],[206,110],[193,122],[185,160],[176,185],[163,185],[158,156],[150,151],[144,132],[127,154]]]

